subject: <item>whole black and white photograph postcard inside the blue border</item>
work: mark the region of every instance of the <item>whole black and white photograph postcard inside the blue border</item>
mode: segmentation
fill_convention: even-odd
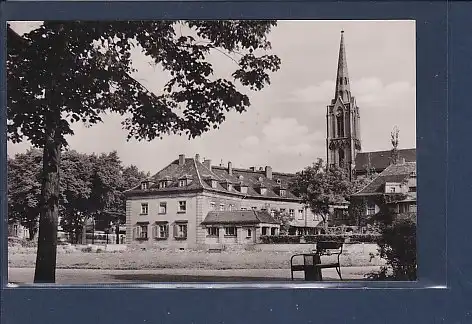
[[[418,279],[414,20],[7,28],[9,283]]]

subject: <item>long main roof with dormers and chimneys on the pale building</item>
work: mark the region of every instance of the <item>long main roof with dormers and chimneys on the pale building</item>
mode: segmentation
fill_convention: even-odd
[[[184,175],[191,181],[187,186],[179,187],[179,178]],[[179,165],[179,160],[171,162],[164,169],[153,175],[150,185],[146,192],[168,192],[168,191],[194,191],[208,190],[225,194],[238,195],[242,197],[254,197],[261,199],[279,199],[279,200],[300,200],[289,190],[285,190],[285,195],[280,196],[278,189],[286,189],[293,174],[272,172],[272,177],[266,176],[265,170],[251,170],[232,168],[230,174],[228,167],[211,166],[211,169],[200,162],[198,159],[185,158],[183,165]],[[159,181],[167,179],[169,182],[165,188],[159,188]],[[208,179],[216,180],[216,187],[212,187]],[[232,183],[231,188],[224,184]],[[246,185],[247,193],[242,193],[237,189],[238,184]],[[257,188],[260,186],[267,188],[265,194],[261,194]],[[141,186],[136,186],[127,191],[128,195],[143,193]]]

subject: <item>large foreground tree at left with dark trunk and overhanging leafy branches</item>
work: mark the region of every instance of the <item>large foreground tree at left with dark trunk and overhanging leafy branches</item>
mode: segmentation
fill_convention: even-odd
[[[72,124],[93,125],[111,111],[125,116],[128,138],[193,138],[217,128],[226,112],[244,112],[250,102],[232,80],[213,77],[209,55],[229,57],[237,63],[232,78],[260,90],[280,65],[277,56],[266,53],[275,24],[48,21],[23,37],[8,27],[8,138],[43,148],[35,282],[55,282],[59,169]],[[131,50],[137,45],[170,74],[161,93],[132,77]]]

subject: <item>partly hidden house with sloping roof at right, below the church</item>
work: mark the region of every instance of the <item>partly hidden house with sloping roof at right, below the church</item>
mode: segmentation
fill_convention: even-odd
[[[354,194],[352,199],[363,198],[364,216],[370,217],[380,211],[379,196],[396,194],[402,194],[404,198],[388,202],[393,211],[398,214],[416,215],[416,162],[402,160],[387,166],[366,187]]]

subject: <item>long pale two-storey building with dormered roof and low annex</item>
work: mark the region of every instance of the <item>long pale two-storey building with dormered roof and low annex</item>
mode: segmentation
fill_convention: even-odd
[[[180,155],[126,192],[127,243],[196,247],[258,242],[278,235],[276,211],[293,215],[293,231],[314,234],[321,218],[288,189],[293,174],[211,165]]]

